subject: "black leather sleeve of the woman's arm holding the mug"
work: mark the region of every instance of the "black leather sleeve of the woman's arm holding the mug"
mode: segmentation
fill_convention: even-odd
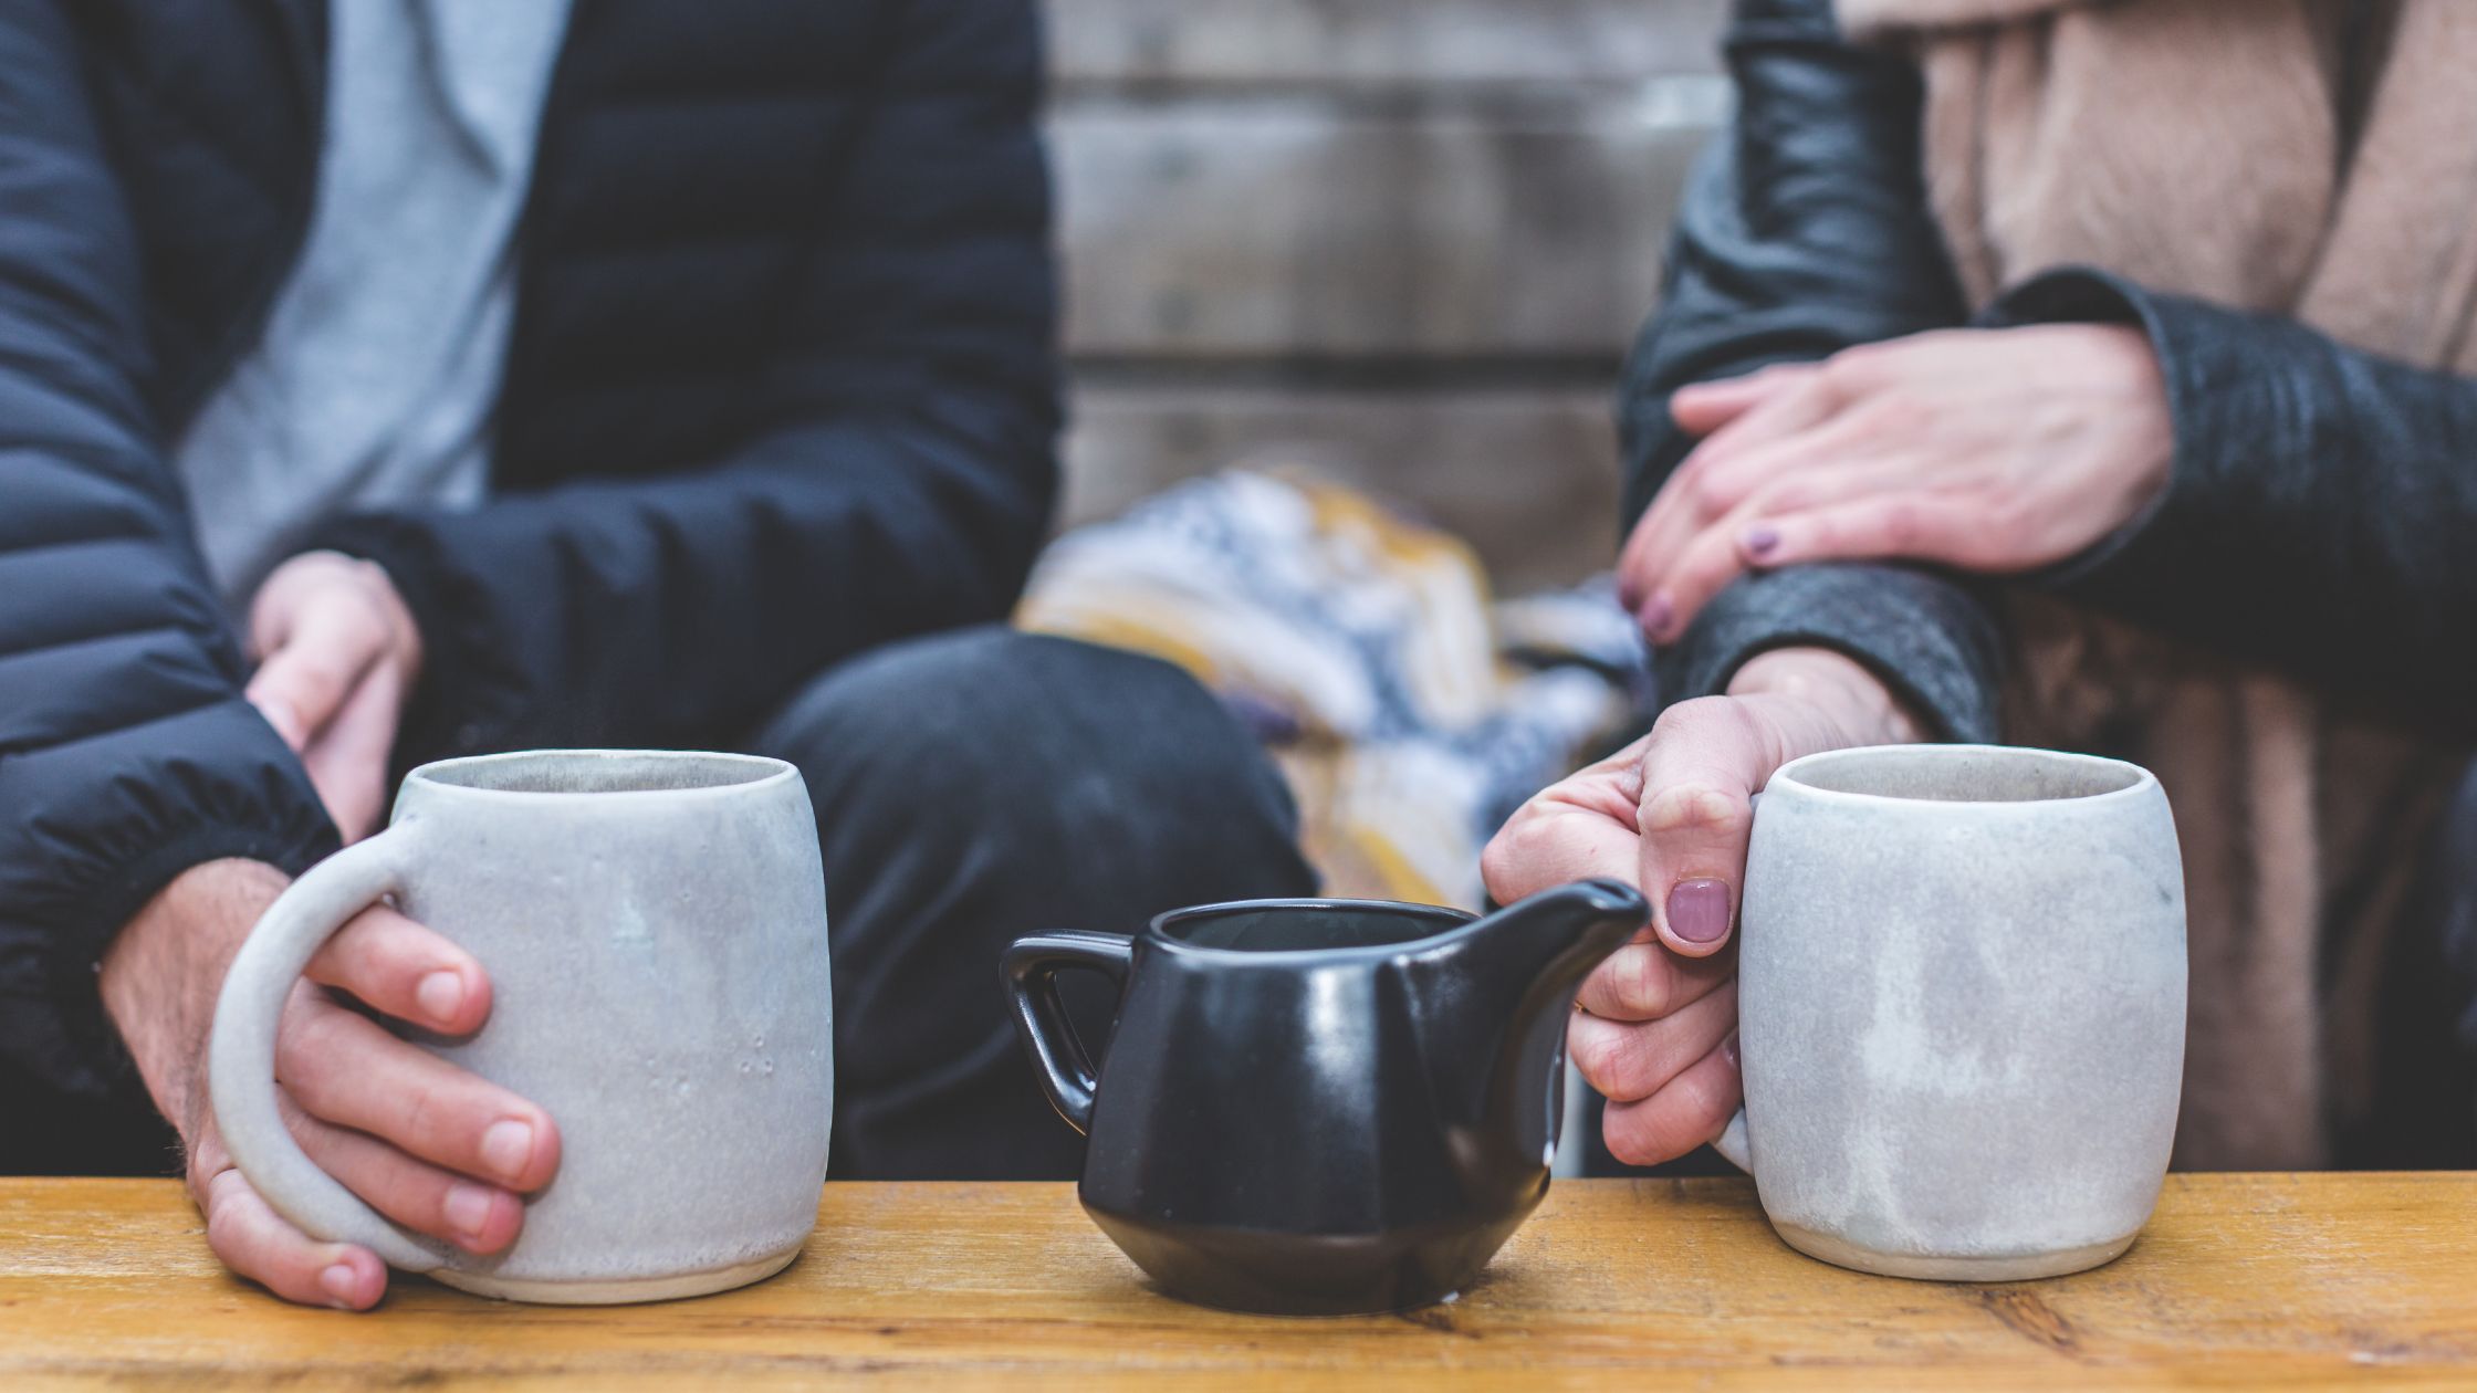
[[[1927,213],[1917,69],[1843,42],[1826,0],[1739,0],[1726,59],[1736,116],[1694,169],[1660,312],[1625,372],[1627,525],[1694,446],[1669,421],[1677,387],[1967,320]],[[1788,644],[1855,657],[1947,739],[1996,739],[1992,610],[1922,568],[1744,578],[1662,654],[1662,692],[1719,692]]]

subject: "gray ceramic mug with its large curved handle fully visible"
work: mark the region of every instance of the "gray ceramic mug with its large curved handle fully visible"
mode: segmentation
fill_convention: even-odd
[[[275,1019],[337,927],[394,900],[490,974],[431,1053],[540,1103],[560,1172],[505,1252],[379,1217],[275,1110]],[[215,1006],[215,1123],[287,1219],[520,1301],[659,1301],[758,1281],[817,1224],[832,1118],[817,820],[773,758],[535,751],[416,768],[394,823],[302,875]]]

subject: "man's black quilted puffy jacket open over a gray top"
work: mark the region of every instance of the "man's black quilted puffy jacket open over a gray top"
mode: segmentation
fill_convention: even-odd
[[[0,7],[0,1167],[111,1155],[94,962],[149,895],[337,840],[166,464],[300,250],[324,69],[320,0]],[[401,756],[726,741],[1008,610],[1055,491],[1038,82],[1025,0],[577,0],[493,501],[317,538],[421,625]]]

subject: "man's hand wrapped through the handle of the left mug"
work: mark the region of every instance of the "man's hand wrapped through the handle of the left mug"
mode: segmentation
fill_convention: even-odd
[[[287,1301],[364,1311],[386,1291],[386,1264],[277,1215],[233,1170],[208,1105],[206,1036],[223,972],[282,887],[282,872],[250,860],[183,872],[114,939],[104,1006],[181,1130],[188,1192],[215,1257]],[[490,1014],[481,964],[394,910],[364,910],[310,959],[285,1004],[277,1101],[310,1160],[381,1215],[466,1252],[515,1242],[520,1195],[560,1165],[550,1115],[391,1036],[339,996],[429,1031],[471,1034]]]

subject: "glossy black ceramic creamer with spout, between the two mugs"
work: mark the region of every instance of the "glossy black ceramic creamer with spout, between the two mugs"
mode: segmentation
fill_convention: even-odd
[[[1167,1291],[1392,1311],[1469,1284],[1548,1192],[1565,1019],[1650,910],[1588,880],[1474,920],[1352,900],[1162,915],[1006,952],[1016,1024],[1085,1150],[1082,1205]],[[1120,982],[1100,1076],[1060,969]]]

